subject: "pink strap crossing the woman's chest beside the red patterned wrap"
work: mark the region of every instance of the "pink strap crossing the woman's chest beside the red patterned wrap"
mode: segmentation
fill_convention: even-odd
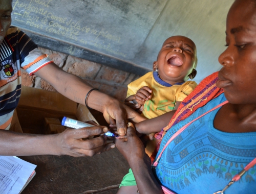
[[[209,111],[205,112],[204,114],[200,115],[199,117],[195,118],[194,120],[191,120],[191,122],[189,122],[188,124],[184,125],[182,128],[179,129],[179,131],[177,131],[165,144],[165,146],[163,147],[163,150],[161,151],[161,153],[159,154],[159,156],[157,157],[156,161],[153,163],[153,166],[157,166],[158,162],[164,152],[164,150],[166,149],[166,147],[169,145],[170,142],[172,142],[178,135],[180,135],[191,123],[195,122],[197,119],[201,118],[202,116],[208,114],[211,111],[214,111],[215,109],[223,106],[224,104],[227,104],[228,101],[224,101],[223,103],[217,105],[216,107],[210,109]]]

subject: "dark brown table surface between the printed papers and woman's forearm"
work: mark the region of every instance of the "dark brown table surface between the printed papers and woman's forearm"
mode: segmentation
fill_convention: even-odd
[[[115,148],[93,157],[23,156],[36,164],[36,175],[24,189],[25,193],[88,193],[88,190],[120,184],[129,165]],[[114,194],[118,188],[99,192]]]

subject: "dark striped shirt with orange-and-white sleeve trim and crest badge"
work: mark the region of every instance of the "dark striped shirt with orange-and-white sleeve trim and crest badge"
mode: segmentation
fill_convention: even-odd
[[[22,88],[20,67],[33,75],[52,63],[37,45],[16,27],[10,27],[0,45],[0,129],[9,130]]]

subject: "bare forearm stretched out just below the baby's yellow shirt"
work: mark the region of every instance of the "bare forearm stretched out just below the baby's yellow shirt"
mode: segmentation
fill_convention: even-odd
[[[160,132],[162,128],[169,124],[170,119],[173,117],[174,111],[166,112],[155,118],[143,120],[140,123],[135,124],[136,130],[141,134],[151,134]]]

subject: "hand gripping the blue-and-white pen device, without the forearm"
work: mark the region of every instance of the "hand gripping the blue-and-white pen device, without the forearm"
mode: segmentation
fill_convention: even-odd
[[[115,148],[114,143],[106,143],[106,136],[101,135],[108,131],[104,126],[85,127],[81,129],[68,128],[64,132],[56,134],[54,143],[59,150],[59,155],[94,156]],[[100,135],[100,136],[98,136]],[[95,138],[90,138],[98,136]],[[84,140],[86,138],[86,140]],[[90,138],[90,139],[87,139]]]

